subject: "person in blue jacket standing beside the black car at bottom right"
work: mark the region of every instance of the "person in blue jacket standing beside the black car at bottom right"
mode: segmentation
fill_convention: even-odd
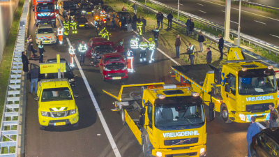
[[[257,133],[259,133],[259,125],[257,125],[255,123],[256,121],[256,117],[251,117],[251,123],[248,131],[247,131],[247,135],[246,135],[246,139],[247,139],[247,143],[248,143],[248,157],[251,157],[251,152],[250,152],[250,144],[252,143],[252,137],[254,135],[256,135]]]

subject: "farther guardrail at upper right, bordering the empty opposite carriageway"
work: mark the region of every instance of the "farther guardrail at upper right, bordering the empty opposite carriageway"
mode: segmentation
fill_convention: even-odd
[[[167,10],[172,10],[172,11],[177,13],[177,9],[176,8],[173,8],[171,6],[167,6],[165,3],[160,3],[159,1],[154,1],[154,0],[146,0],[146,1],[149,1],[149,2],[151,2],[153,4],[156,4],[157,6],[166,8]],[[205,20],[202,17],[198,17],[196,15],[187,13],[187,12],[182,11],[182,10],[179,10],[179,15],[181,15],[181,16],[183,15],[185,17],[191,17],[193,20],[195,20],[197,22],[200,22],[201,24],[205,24],[208,27],[212,27],[212,29],[213,28],[216,29],[216,31],[220,30],[220,31],[224,32],[224,30],[225,30],[225,27],[221,26],[220,24],[216,24],[214,22],[210,22],[209,20]],[[179,20],[179,22],[182,22],[182,21]],[[229,34],[232,35],[232,37],[238,36],[238,31],[236,31],[234,29],[230,29]],[[243,43],[245,41],[248,42],[249,45],[250,45],[250,43],[252,43],[252,44],[255,45],[255,47],[259,46],[259,47],[262,47],[262,48],[264,48],[266,50],[269,50],[269,53],[270,52],[276,53],[276,56],[279,54],[279,47],[276,46],[276,45],[273,45],[271,43],[267,43],[264,40],[260,40],[258,38],[252,37],[252,36],[248,36],[245,33],[240,33],[240,36],[241,36],[241,39],[243,40]]]

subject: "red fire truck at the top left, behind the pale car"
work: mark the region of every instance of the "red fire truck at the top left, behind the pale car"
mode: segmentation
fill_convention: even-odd
[[[56,5],[54,0],[33,0],[33,11],[35,16],[35,24],[52,24],[56,25]]]

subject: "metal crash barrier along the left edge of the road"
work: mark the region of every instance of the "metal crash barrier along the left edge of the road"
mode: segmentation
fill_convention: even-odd
[[[6,99],[3,107],[3,116],[0,130],[0,156],[15,157],[20,156],[19,144],[24,135],[19,135],[20,125],[22,125],[22,51],[24,51],[25,38],[27,36],[27,22],[29,20],[29,0],[24,1],[20,26],[18,28],[17,40],[13,51],[13,60],[10,68],[10,77],[6,91]],[[24,84],[25,85],[25,84]],[[23,128],[24,129],[24,128]],[[19,137],[21,136],[21,137]],[[20,138],[20,141],[19,141]]]

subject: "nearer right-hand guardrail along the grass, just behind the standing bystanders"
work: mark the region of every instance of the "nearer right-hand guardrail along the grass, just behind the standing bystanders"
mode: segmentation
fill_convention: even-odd
[[[132,3],[137,2],[137,5],[139,5],[140,7],[144,8],[146,10],[149,10],[153,13],[158,13],[158,10],[155,10],[155,9],[149,7],[149,6],[145,6],[144,4],[142,4],[138,1],[133,1],[133,0],[128,0],[128,1],[130,1]],[[164,15],[164,17],[167,19],[166,14]],[[184,27],[185,31],[186,31],[186,28],[187,28],[186,22],[183,22],[181,20],[177,20],[176,18],[173,18],[172,22],[174,22],[175,24],[178,24],[179,27],[181,27],[181,28]],[[204,34],[204,38],[211,40],[211,43],[213,42],[213,43],[216,43],[216,45],[217,45],[217,43],[219,41],[218,36],[214,36],[213,34],[211,34],[209,32],[206,32],[206,31],[203,31],[202,29],[197,29],[197,28],[194,28],[193,34],[194,33],[199,34],[200,31],[202,31],[202,33]],[[224,40],[224,47],[229,48],[229,47],[238,47],[238,46],[234,45],[233,43],[229,43],[227,40]],[[255,54],[254,52],[250,52],[249,50],[246,50],[242,47],[241,47],[241,50],[244,52],[244,54],[246,54],[246,57],[249,57],[250,59],[261,59],[263,62],[268,63],[268,64],[272,65],[273,67],[279,68],[279,64],[274,62],[274,61],[266,59],[266,58],[260,56],[259,54]]]

